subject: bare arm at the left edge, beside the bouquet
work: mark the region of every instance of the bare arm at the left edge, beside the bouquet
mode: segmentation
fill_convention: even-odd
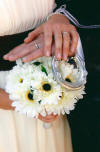
[[[12,101],[9,99],[9,95],[3,89],[0,89],[0,109],[14,110],[11,104]]]

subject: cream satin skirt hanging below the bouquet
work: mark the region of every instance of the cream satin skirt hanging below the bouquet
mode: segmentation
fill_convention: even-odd
[[[0,110],[0,152],[72,152],[66,116],[45,129],[43,122],[14,111]]]

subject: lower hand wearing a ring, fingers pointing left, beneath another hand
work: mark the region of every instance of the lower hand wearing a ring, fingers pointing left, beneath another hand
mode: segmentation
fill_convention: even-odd
[[[28,44],[23,43],[12,49],[8,54],[4,55],[4,59],[9,61],[15,61],[19,58],[22,58],[23,62],[29,62],[31,60],[43,56],[43,39],[43,34],[39,35],[35,39],[35,42],[39,45],[39,49],[35,48],[34,41]]]

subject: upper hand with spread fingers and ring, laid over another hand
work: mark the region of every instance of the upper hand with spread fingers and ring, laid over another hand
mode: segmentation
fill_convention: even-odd
[[[78,43],[78,33],[68,19],[63,15],[53,15],[50,19],[38,27],[33,32],[29,33],[24,40],[29,43],[34,40],[39,34],[44,34],[44,55],[52,55],[52,42],[54,40],[54,54],[58,60],[66,60],[68,56],[73,56],[76,53]]]

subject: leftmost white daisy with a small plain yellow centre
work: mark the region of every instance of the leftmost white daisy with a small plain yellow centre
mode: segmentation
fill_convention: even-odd
[[[6,79],[6,91],[13,93],[17,90],[26,90],[30,86],[30,80],[33,79],[32,70],[30,66],[28,68],[15,66]]]

